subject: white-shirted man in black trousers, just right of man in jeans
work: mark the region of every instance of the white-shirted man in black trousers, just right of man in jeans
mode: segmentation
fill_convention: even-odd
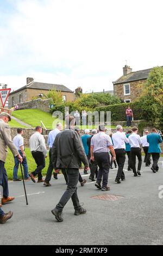
[[[35,133],[29,139],[29,147],[32,156],[37,164],[37,168],[29,176],[33,182],[35,182],[35,176],[38,175],[37,182],[44,182],[42,179],[42,169],[45,168],[45,157],[47,157],[47,149],[45,145],[45,139],[42,133],[42,127],[36,126]]]

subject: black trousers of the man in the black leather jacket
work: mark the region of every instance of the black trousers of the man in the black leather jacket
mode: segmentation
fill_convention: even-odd
[[[79,180],[79,169],[68,168],[65,170],[68,176],[68,185],[65,193],[62,195],[59,203],[56,205],[56,208],[62,210],[64,206],[67,204],[70,198],[72,199],[72,203],[74,209],[80,208],[80,203],[77,194],[77,184]]]

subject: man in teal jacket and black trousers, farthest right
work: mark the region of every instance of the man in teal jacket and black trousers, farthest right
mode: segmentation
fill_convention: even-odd
[[[156,173],[159,170],[158,161],[161,153],[159,144],[162,142],[162,139],[155,128],[152,129],[151,134],[147,135],[147,142],[149,143],[148,153],[152,155],[153,159],[153,165],[151,169],[153,173]]]

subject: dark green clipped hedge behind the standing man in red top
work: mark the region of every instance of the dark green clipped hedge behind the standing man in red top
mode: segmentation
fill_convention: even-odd
[[[96,107],[96,111],[111,111],[111,121],[126,121],[126,109],[128,103],[121,103],[116,105],[109,105],[103,107]],[[133,109],[133,115],[135,120],[146,119],[145,113],[141,110],[139,102],[130,103],[131,109]]]

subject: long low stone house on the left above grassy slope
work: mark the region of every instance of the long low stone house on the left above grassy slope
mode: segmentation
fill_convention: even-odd
[[[11,92],[9,95],[9,108],[18,103],[33,100],[36,96],[41,94],[48,94],[49,90],[55,89],[61,92],[65,101],[74,101],[74,93],[72,90],[61,84],[40,83],[35,82],[32,77],[27,78],[26,86]]]

